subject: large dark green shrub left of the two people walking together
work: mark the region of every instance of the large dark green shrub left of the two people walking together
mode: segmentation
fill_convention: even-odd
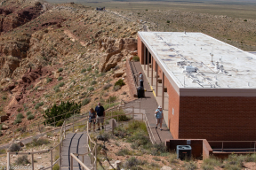
[[[53,104],[51,109],[47,109],[44,113],[44,119],[45,119],[45,123],[50,124],[52,122],[54,122],[53,117],[58,116],[60,114],[63,113],[67,113],[67,114],[63,114],[61,116],[58,116],[55,118],[55,121],[59,121],[59,120],[66,120],[68,119],[71,115],[73,115],[73,112],[75,114],[79,114],[80,113],[80,108],[81,108],[81,104],[76,104],[76,103],[65,103],[61,101],[60,105],[56,105]]]

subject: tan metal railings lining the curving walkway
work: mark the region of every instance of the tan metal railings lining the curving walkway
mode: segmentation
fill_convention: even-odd
[[[140,105],[140,102],[137,102]],[[135,103],[134,103],[135,104]],[[128,111],[128,112],[124,112],[124,114],[117,114],[117,115],[113,115],[113,113],[115,113],[116,111]],[[120,112],[119,112],[120,113]],[[156,143],[156,139],[152,133],[152,130],[150,128],[150,125],[148,123],[148,119],[146,117],[146,115],[144,113],[134,113],[134,106],[132,107],[126,107],[125,106],[125,102],[121,101],[119,105],[116,105],[112,108],[109,108],[108,110],[106,110],[106,115],[105,115],[105,119],[104,119],[104,126],[105,126],[105,131],[110,130],[111,128],[107,128],[107,124],[109,123],[109,120],[116,118],[117,120],[117,126],[120,126],[122,124],[124,124],[124,122],[120,122],[119,117],[120,116],[127,116],[130,117],[131,119],[134,119],[134,116],[137,115],[140,118],[136,118],[136,120],[142,120],[145,122],[146,127],[148,129],[148,134],[149,134],[149,138],[151,143]],[[60,142],[55,145],[52,148],[49,148],[47,150],[44,151],[31,151],[31,152],[7,152],[7,169],[12,169],[11,167],[11,158],[12,155],[16,155],[16,156],[23,156],[23,155],[27,155],[28,158],[31,160],[31,169],[34,170],[35,166],[34,166],[34,161],[35,161],[35,157],[36,155],[43,154],[43,153],[48,153],[49,154],[49,162],[51,162],[50,166],[48,167],[44,167],[42,168],[42,170],[46,170],[46,169],[52,169],[53,166],[57,163],[59,163],[60,169],[61,169],[61,147],[63,146],[63,141],[66,138],[66,135],[68,132],[77,132],[79,130],[81,131],[87,131],[86,135],[87,135],[87,142],[88,142],[88,151],[84,154],[78,154],[78,153],[70,153],[70,168],[71,170],[73,170],[73,163],[74,160],[77,161],[80,166],[82,166],[84,169],[86,170],[92,170],[92,169],[97,169],[97,143],[95,143],[92,138],[91,138],[91,129],[89,129],[89,120],[88,120],[88,115],[80,115],[77,116],[77,120],[75,121],[75,119],[71,118],[71,123],[68,123],[68,121],[70,120],[64,120],[61,128],[60,128]],[[75,130],[76,129],[76,130]],[[90,130],[90,131],[89,131]],[[84,156],[88,155],[89,158],[91,159],[91,164],[92,167],[88,167],[88,165],[84,165]],[[77,156],[82,156],[82,160],[80,160]],[[14,157],[16,158],[16,157]]]

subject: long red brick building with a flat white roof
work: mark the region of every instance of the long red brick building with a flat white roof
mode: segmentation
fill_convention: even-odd
[[[139,32],[138,55],[174,139],[256,140],[255,55],[201,33],[164,32]]]

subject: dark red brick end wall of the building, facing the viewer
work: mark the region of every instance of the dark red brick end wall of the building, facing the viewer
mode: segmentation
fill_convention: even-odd
[[[255,111],[256,97],[180,97],[179,138],[256,140]]]

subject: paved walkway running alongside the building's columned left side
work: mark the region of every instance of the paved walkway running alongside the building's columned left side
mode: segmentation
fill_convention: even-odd
[[[169,130],[169,128],[167,127],[165,120],[163,122],[163,131],[160,131],[159,129],[159,125],[158,128],[156,129],[156,117],[155,117],[155,111],[157,109],[157,102],[156,102],[156,97],[153,94],[153,91],[148,83],[148,79],[146,77],[146,74],[144,73],[140,62],[133,62],[132,63],[132,69],[134,71],[134,73],[143,73],[144,75],[144,88],[147,89],[147,91],[145,92],[145,98],[139,98],[137,100],[140,101],[140,105],[138,103],[128,103],[126,104],[127,106],[134,106],[134,108],[137,108],[137,110],[135,110],[135,112],[138,112],[138,108],[140,107],[141,111],[140,112],[145,112],[146,116],[148,118],[148,122],[150,125],[150,128],[152,129],[153,135],[156,139],[156,143],[164,143],[166,140],[169,139],[173,139],[172,134]],[[161,89],[159,87],[159,89]],[[159,91],[159,94],[161,92]],[[165,94],[164,94],[165,95]],[[168,106],[168,104],[165,104],[166,107]],[[164,107],[165,108],[165,107]],[[166,112],[166,111],[165,111]],[[168,116],[168,115],[167,115]],[[164,116],[166,117],[166,115]],[[165,118],[166,119],[166,118]]]

